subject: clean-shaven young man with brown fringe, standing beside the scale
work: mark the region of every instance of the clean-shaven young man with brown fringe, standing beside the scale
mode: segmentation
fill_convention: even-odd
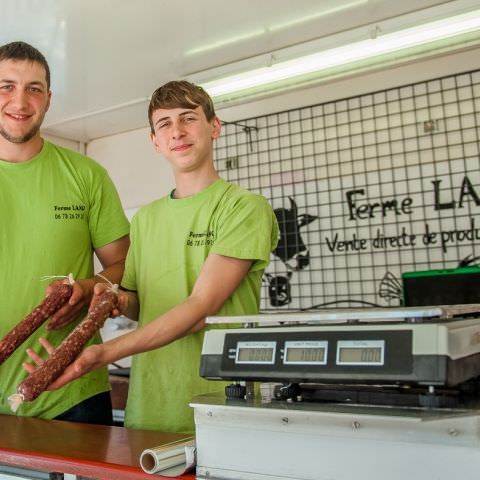
[[[151,141],[170,163],[175,189],[132,220],[121,283],[126,291],[114,314],[138,318],[138,328],[86,348],[51,388],[139,354],[132,361],[125,425],[191,432],[192,397],[222,388],[199,376],[205,318],[258,312],[278,225],[264,197],[215,170],[213,142],[221,125],[201,87],[169,82],[154,92],[148,113]]]

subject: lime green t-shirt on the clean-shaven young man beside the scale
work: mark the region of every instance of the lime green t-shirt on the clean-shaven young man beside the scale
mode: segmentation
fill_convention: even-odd
[[[138,292],[139,326],[190,295],[209,253],[254,260],[218,315],[257,313],[262,273],[277,236],[275,215],[266,199],[221,179],[195,196],[165,197],[140,209],[132,220],[122,280],[125,288]],[[203,332],[198,332],[134,356],[126,426],[194,430],[192,397],[224,385],[200,378],[202,343]]]

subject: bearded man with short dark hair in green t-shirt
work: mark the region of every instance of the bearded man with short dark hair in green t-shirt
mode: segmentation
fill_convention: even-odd
[[[62,328],[40,327],[0,365],[2,414],[12,413],[7,398],[25,377],[25,349],[38,350],[41,335],[58,345],[103,281],[94,276],[93,253],[102,275],[118,283],[129,245],[128,221],[105,169],[40,135],[51,97],[40,52],[24,42],[0,46],[0,338],[42,301],[42,277],[72,273],[76,280],[69,303],[54,316]],[[23,404],[18,414],[109,424],[109,390],[108,372],[100,369]]]

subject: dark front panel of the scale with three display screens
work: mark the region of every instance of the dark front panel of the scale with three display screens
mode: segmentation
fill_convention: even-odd
[[[295,328],[224,330],[217,354],[204,348],[201,375],[259,381],[382,381],[412,379],[410,330],[325,331]],[[218,330],[206,333],[215,341]],[[219,340],[219,338],[217,338]]]

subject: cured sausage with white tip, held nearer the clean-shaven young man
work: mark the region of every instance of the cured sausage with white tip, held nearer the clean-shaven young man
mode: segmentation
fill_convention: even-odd
[[[8,398],[15,412],[23,403],[35,400],[53,383],[82,351],[83,346],[102,327],[117,306],[116,286],[93,297],[86,317],[63,340],[50,357],[17,386],[17,393]]]

